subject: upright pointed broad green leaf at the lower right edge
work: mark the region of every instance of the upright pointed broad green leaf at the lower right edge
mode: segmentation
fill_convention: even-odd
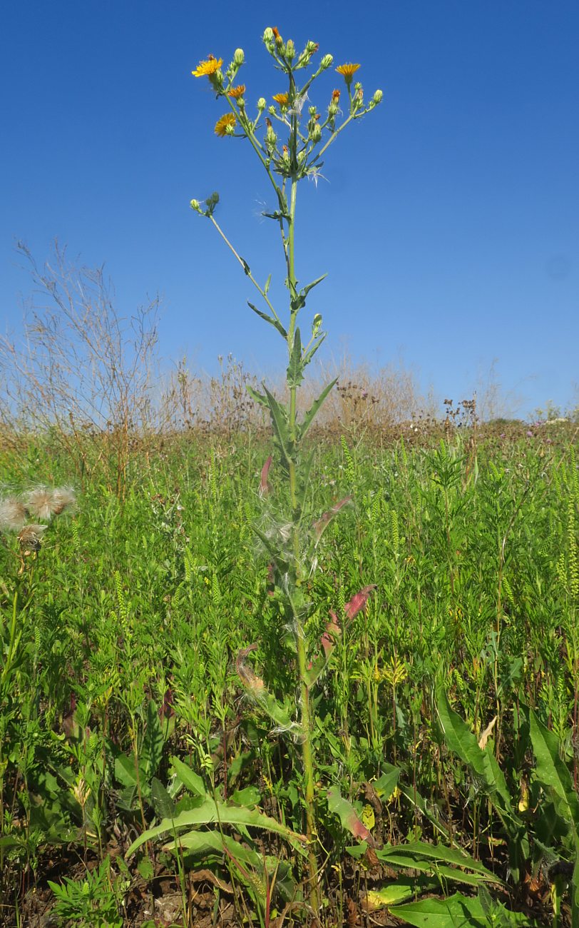
[[[529,712],[531,741],[535,752],[535,776],[552,798],[561,818],[576,835],[579,829],[579,798],[573,789],[573,780],[567,765],[560,759],[559,739]]]

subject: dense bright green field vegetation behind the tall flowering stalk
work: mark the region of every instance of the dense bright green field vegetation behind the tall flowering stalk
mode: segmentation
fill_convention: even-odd
[[[320,647],[329,612],[342,622],[346,602],[376,586],[337,641],[313,702],[330,912],[344,909],[346,890],[358,904],[371,888],[364,879],[376,876],[371,861],[360,870],[346,852],[356,842],[322,802],[337,787],[359,815],[366,806],[362,819],[378,847],[442,838],[507,881],[497,892],[510,909],[533,909],[537,923],[553,923],[555,877],[543,864],[533,873],[530,853],[526,882],[524,873],[518,885],[510,879],[500,817],[450,753],[436,704],[442,688],[477,738],[496,716],[487,750],[515,806],[530,784],[527,818],[541,794],[522,707],[552,729],[576,787],[579,471],[564,442],[489,440],[475,454],[471,437],[411,449],[343,440],[316,454],[320,512],[349,494],[353,503],[323,535],[307,581],[310,651]],[[44,885],[55,846],[72,842],[85,860],[106,859],[166,814],[161,799],[179,798],[172,755],[208,795],[230,801],[235,790],[254,788],[249,805],[303,831],[296,746],[248,700],[236,666],[239,651],[256,643],[247,665],[295,715],[293,656],[253,531],[257,524],[267,532],[277,511],[275,494],[258,495],[269,453],[259,445],[180,440],[155,455],[135,452],[124,500],[105,482],[87,481],[76,513],[51,524],[21,573],[17,541],[4,536],[0,883],[5,917],[15,920],[6,924],[17,923],[26,889]],[[12,488],[71,478],[67,461],[42,445],[6,452],[0,463]],[[401,792],[381,793],[372,783],[384,783],[391,765]],[[299,856],[276,840],[264,839],[258,852],[290,864],[296,894]],[[565,839],[549,841],[564,859]],[[146,845],[139,866],[149,890],[149,857],[157,873],[175,874],[186,896],[195,860]],[[227,855],[206,857],[230,883]],[[571,851],[567,857],[573,862]],[[135,860],[125,888],[143,883]],[[334,865],[344,865],[339,881]],[[63,850],[58,878],[68,867]],[[240,901],[254,898],[240,872],[237,917],[245,911],[258,920],[258,903],[244,909]],[[107,879],[109,896],[119,896],[119,874],[114,885]],[[282,911],[283,900],[275,907]],[[292,911],[285,918],[302,923]]]

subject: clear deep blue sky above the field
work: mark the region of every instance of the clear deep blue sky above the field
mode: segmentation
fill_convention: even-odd
[[[328,273],[308,303],[329,332],[326,359],[401,360],[441,400],[481,389],[494,367],[521,414],[577,402],[576,0],[8,0],[0,329],[18,329],[31,293],[15,241],[42,263],[58,238],[106,264],[121,313],[161,295],[168,365],[186,353],[213,371],[231,352],[279,375],[281,340],[188,205],[219,190],[220,223],[283,298],[276,229],[260,217],[267,177],[246,142],[213,135],[222,104],[191,76],[241,46],[248,104],[283,90],[267,25],[360,62],[366,97],[384,90],[327,153],[327,180],[300,187],[297,274]],[[334,86],[330,73],[312,93],[319,109]]]

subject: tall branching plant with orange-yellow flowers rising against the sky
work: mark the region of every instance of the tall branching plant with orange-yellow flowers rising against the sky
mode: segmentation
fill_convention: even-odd
[[[246,649],[238,660],[240,676],[256,702],[274,719],[278,730],[283,729],[293,734],[298,729],[298,741],[301,743],[303,760],[304,802],[306,807],[306,833],[308,837],[308,882],[309,900],[314,911],[320,907],[318,890],[318,865],[316,854],[316,816],[314,796],[314,758],[312,752],[312,724],[310,715],[309,691],[321,670],[327,663],[333,650],[335,638],[340,634],[336,621],[326,626],[322,640],[321,656],[308,654],[308,641],[305,634],[305,620],[310,606],[304,594],[303,580],[306,571],[312,570],[317,562],[316,548],[321,534],[342,504],[324,513],[321,517],[310,509],[308,503],[308,474],[311,455],[304,454],[304,439],[315,419],[321,405],[334,387],[335,380],[328,383],[314,401],[301,421],[297,417],[297,392],[304,379],[305,368],[311,362],[324,341],[326,333],[321,330],[321,316],[316,314],[311,323],[311,333],[307,344],[303,344],[301,331],[297,325],[298,316],[304,310],[308,293],[316,287],[322,277],[303,288],[298,286],[296,276],[296,194],[297,185],[305,178],[316,183],[321,176],[321,156],[332,145],[350,122],[359,120],[373,110],[382,100],[382,91],[377,90],[370,102],[364,102],[362,85],[354,82],[359,71],[359,64],[343,64],[335,69],[346,83],[346,113],[340,109],[342,92],[334,89],[324,116],[314,106],[309,92],[314,82],[322,73],[328,71],[334,62],[332,55],[324,55],[317,68],[311,65],[312,58],[318,52],[315,42],[308,42],[301,52],[296,53],[292,40],[283,41],[280,32],[266,29],[263,43],[273,58],[277,71],[286,79],[286,90],[276,93],[273,103],[268,106],[266,99],[258,99],[256,114],[252,118],[246,109],[245,84],[237,84],[237,75],[245,61],[245,55],[238,48],[233,60],[225,71],[222,70],[221,58],[208,56],[201,61],[193,74],[195,77],[208,79],[216,97],[227,103],[229,109],[220,116],[215,124],[215,133],[220,137],[233,136],[245,138],[254,149],[259,161],[268,175],[275,192],[277,209],[264,213],[279,226],[283,260],[285,264],[285,286],[289,290],[289,315],[286,321],[276,310],[269,296],[271,275],[263,286],[251,273],[245,261],[233,244],[226,237],[215,218],[215,209],[219,194],[213,193],[208,200],[200,202],[191,200],[196,213],[208,218],[233,252],[233,256],[242,265],[245,275],[265,303],[266,309],[259,309],[249,303],[251,309],[264,321],[268,322],[287,345],[288,367],[286,385],[288,400],[280,403],[273,394],[263,386],[263,393],[250,390],[253,398],[268,408],[277,445],[279,464],[286,479],[288,489],[289,513],[284,520],[283,530],[276,537],[267,533],[258,535],[268,550],[273,565],[275,586],[282,603],[283,613],[291,629],[291,636],[296,651],[297,689],[299,692],[299,722],[291,722],[285,708],[265,690],[263,681],[245,667]],[[298,84],[299,71],[309,74],[303,84]],[[276,131],[277,129],[277,131]],[[278,135],[279,134],[279,135]],[[282,137],[280,137],[282,136]],[[267,476],[266,476],[267,483]],[[346,503],[346,501],[343,501]],[[289,526],[289,531],[288,531]],[[307,566],[308,565],[308,566]],[[370,587],[367,588],[369,590]],[[363,602],[368,596],[365,590]],[[362,600],[360,600],[361,602]],[[361,607],[360,607],[361,608]],[[354,613],[353,613],[354,614]],[[243,658],[243,660],[242,660]]]

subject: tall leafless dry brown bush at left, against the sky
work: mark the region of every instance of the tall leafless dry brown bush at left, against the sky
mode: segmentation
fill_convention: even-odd
[[[151,419],[158,299],[122,316],[103,267],[69,262],[58,244],[43,267],[18,251],[34,292],[21,337],[0,337],[4,429],[49,430],[81,479],[101,467],[122,496],[131,435]]]

